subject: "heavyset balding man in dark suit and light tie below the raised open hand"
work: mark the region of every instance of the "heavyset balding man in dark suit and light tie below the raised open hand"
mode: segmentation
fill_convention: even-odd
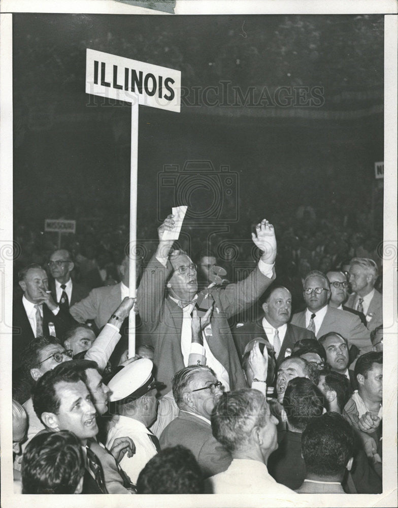
[[[254,323],[238,323],[233,329],[238,352],[243,355],[245,346],[256,337],[267,339],[274,347],[277,367],[285,356],[290,356],[293,345],[301,339],[314,339],[310,330],[288,323],[291,314],[291,294],[283,286],[266,292],[262,303],[264,316]]]

